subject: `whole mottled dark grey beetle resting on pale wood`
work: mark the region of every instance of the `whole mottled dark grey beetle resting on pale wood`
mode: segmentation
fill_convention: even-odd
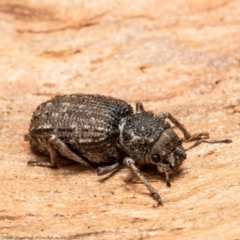
[[[184,135],[194,141],[188,149],[166,121],[168,118]],[[57,96],[37,107],[33,113],[29,140],[33,150],[50,155],[51,162],[32,160],[31,166],[57,167],[57,156],[64,156],[82,165],[98,167],[98,175],[127,165],[139,177],[153,198],[162,205],[157,191],[139,171],[139,166],[153,164],[169,174],[186,159],[186,151],[205,143],[230,143],[231,140],[206,141],[208,133],[190,135],[171,114],[154,115],[141,103],[136,113],[125,101],[101,95]]]

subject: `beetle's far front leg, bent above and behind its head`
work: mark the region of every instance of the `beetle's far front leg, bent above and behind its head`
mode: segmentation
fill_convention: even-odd
[[[168,112],[160,112],[158,114],[158,118],[162,120],[165,120],[166,118],[168,118],[177,128],[179,128],[182,131],[184,135],[184,139],[187,142],[209,138],[209,134],[207,132],[201,132],[201,133],[196,133],[191,135],[187,131],[187,129],[175,117],[173,117]]]

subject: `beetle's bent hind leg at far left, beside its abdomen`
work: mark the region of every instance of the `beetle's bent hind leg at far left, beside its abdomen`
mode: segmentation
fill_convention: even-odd
[[[40,162],[37,160],[31,160],[28,162],[28,165],[30,166],[40,166],[40,167],[49,167],[49,168],[56,168],[57,167],[57,162],[58,162],[58,157],[57,157],[57,151],[63,156],[66,157],[70,160],[73,160],[75,162],[80,163],[81,165],[84,166],[90,166],[88,162],[83,160],[81,157],[76,155],[74,152],[72,152],[68,146],[61,140],[59,139],[56,135],[52,135],[49,140],[49,154],[51,158],[51,163],[46,163],[46,162]]]

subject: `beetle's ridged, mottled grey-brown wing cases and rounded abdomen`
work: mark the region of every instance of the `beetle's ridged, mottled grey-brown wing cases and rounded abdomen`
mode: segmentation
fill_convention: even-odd
[[[34,112],[30,144],[34,150],[49,155],[48,139],[54,134],[90,163],[116,162],[123,158],[118,146],[118,124],[132,114],[130,105],[111,97],[57,96]]]

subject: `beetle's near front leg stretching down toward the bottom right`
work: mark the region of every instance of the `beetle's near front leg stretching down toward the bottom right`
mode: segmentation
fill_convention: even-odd
[[[147,187],[149,192],[151,193],[152,197],[158,202],[158,205],[163,206],[162,199],[158,192],[151,186],[151,184],[147,181],[147,179],[143,176],[143,174],[140,172],[138,167],[135,165],[135,162],[133,159],[127,157],[123,160],[123,163],[130,167],[132,171],[136,174],[136,176],[144,183],[144,185]]]

